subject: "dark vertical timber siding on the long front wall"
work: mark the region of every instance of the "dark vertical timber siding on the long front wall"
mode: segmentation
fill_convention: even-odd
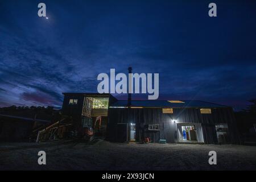
[[[230,107],[212,109],[212,114],[201,114],[199,108],[174,108],[173,114],[163,114],[162,108],[109,108],[107,139],[117,141],[118,135],[114,130],[117,123],[136,123],[136,140],[141,141],[145,135],[158,142],[166,139],[168,143],[177,142],[177,123],[202,123],[205,143],[216,143],[215,124],[228,123],[232,143],[239,143],[237,127],[233,110]],[[144,125],[158,124],[160,131],[144,133]],[[149,135],[149,136],[148,136]]]

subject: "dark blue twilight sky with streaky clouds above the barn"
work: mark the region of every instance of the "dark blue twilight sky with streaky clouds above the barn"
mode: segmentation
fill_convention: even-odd
[[[0,106],[61,106],[132,66],[159,73],[159,99],[241,109],[256,97],[255,19],[255,1],[0,0]]]

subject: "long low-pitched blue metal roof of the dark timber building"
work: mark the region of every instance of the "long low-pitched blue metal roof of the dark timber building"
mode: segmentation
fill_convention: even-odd
[[[224,105],[214,104],[199,100],[181,100],[184,103],[172,103],[162,100],[146,100],[146,101],[131,101],[133,107],[201,107],[201,108],[212,108],[212,107],[228,107]],[[127,100],[114,102],[112,107],[125,107],[127,106]]]

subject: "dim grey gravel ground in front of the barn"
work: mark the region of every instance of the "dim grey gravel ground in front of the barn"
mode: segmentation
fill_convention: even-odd
[[[47,164],[38,164],[46,151]],[[209,165],[208,152],[217,152]],[[255,170],[256,146],[214,144],[0,143],[0,170]]]

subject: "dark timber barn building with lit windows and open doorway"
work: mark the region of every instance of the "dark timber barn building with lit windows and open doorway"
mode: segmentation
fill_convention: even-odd
[[[111,94],[63,93],[63,114],[76,129],[97,129],[112,142],[240,143],[232,107],[204,101],[117,100]],[[100,121],[100,125],[98,125]]]

